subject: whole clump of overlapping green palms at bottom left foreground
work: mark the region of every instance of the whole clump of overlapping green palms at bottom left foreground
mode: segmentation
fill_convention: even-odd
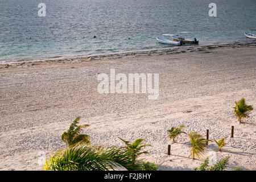
[[[82,135],[82,127],[78,125],[80,117],[72,122],[67,131],[61,135],[63,142],[68,147],[60,148],[52,156],[46,159],[43,165],[45,171],[155,171],[158,165],[142,162],[137,159],[141,154],[147,154],[142,148],[150,144],[142,144],[144,139],[136,139],[134,142],[121,139],[125,147],[93,146],[89,141],[89,135]]]

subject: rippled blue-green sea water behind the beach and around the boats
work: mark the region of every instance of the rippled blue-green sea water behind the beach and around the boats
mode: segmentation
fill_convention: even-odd
[[[200,45],[255,41],[250,28],[255,0],[1,0],[0,63],[172,47],[156,37],[179,31]]]

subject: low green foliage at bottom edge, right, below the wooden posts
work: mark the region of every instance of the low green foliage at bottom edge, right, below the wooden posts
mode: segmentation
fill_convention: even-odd
[[[230,156],[227,156],[226,158],[219,160],[217,164],[214,164],[212,167],[209,166],[209,158],[204,160],[204,163],[201,164],[199,168],[194,168],[194,171],[224,171],[229,164],[229,158]]]

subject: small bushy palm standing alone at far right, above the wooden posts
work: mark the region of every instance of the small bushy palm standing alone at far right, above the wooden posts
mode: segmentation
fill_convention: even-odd
[[[245,98],[241,98],[240,101],[235,102],[234,114],[238,117],[238,121],[241,122],[242,118],[249,117],[248,113],[253,110],[253,106],[245,104]]]

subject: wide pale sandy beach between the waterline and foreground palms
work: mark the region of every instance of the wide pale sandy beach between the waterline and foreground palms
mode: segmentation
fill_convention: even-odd
[[[148,94],[100,94],[97,75],[159,73],[159,97]],[[146,139],[145,161],[163,170],[191,170],[208,154],[230,156],[228,170],[256,170],[256,43],[180,47],[94,57],[0,64],[0,170],[41,170],[40,154],[51,155],[65,144],[61,134],[73,119],[92,143],[111,146]],[[253,105],[239,123],[234,101]],[[166,130],[184,125],[209,139],[226,137],[218,151],[209,142],[203,159],[192,159],[189,138],[176,143]],[[230,138],[234,126],[234,138]],[[171,144],[171,155],[167,146]]]

